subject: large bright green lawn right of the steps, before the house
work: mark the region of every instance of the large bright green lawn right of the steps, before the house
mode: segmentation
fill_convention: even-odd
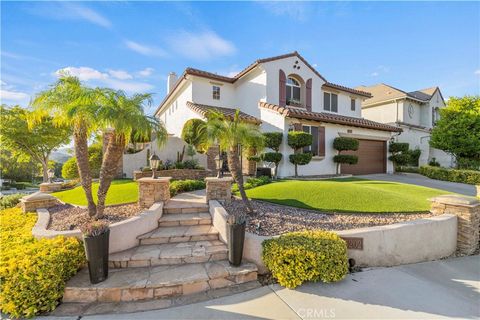
[[[324,212],[421,212],[429,198],[451,192],[358,178],[284,180],[247,190],[249,198]]]

